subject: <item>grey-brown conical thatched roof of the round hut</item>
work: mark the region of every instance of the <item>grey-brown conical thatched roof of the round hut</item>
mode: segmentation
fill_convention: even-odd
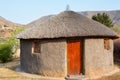
[[[117,34],[87,17],[73,11],[64,11],[42,21],[38,26],[31,27],[20,34],[20,39],[43,39],[61,37],[118,37]]]

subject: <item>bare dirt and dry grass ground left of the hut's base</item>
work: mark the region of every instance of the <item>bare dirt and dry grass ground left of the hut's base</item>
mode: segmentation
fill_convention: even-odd
[[[63,78],[43,77],[20,72],[16,70],[19,65],[19,58],[8,63],[0,63],[0,80],[64,80]]]

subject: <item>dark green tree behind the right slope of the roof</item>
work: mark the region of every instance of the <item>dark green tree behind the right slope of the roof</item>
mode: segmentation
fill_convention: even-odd
[[[97,15],[93,15],[92,19],[106,25],[109,28],[114,26],[109,15],[107,15],[106,13],[98,13]]]

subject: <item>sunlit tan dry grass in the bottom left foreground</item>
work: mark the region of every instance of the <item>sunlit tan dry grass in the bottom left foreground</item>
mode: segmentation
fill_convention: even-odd
[[[20,74],[14,70],[8,68],[0,68],[0,80],[63,80],[62,78],[45,78],[45,77],[35,77],[34,75]]]

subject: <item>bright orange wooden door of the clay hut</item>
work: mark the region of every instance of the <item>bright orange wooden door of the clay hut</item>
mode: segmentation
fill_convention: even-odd
[[[82,69],[81,41],[67,42],[68,75],[79,75]]]

